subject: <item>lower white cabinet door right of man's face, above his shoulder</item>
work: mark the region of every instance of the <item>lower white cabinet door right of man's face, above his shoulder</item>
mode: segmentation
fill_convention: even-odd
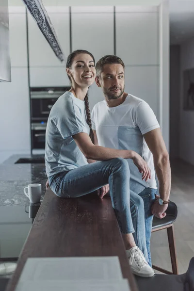
[[[159,67],[126,67],[125,92],[145,100],[159,118]]]

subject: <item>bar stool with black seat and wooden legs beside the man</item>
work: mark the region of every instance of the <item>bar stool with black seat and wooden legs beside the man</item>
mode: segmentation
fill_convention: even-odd
[[[169,272],[165,269],[152,265],[153,269],[167,275],[172,275],[172,274],[178,275],[177,253],[176,253],[174,225],[173,225],[173,223],[177,219],[177,212],[178,212],[177,205],[174,202],[170,201],[168,208],[166,210],[166,216],[162,219],[154,216],[153,223],[152,223],[152,232],[159,231],[162,229],[167,230],[170,258],[171,258],[171,264],[172,264],[172,272]]]

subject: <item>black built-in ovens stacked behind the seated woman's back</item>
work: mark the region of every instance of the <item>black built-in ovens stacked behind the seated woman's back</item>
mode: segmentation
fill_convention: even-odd
[[[50,110],[70,87],[31,88],[32,150],[45,148],[45,134]]]

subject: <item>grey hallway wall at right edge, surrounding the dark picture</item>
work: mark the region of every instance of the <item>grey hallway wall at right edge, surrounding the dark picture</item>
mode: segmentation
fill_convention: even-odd
[[[180,158],[194,165],[194,111],[183,110],[183,71],[194,68],[194,39],[180,49]]]

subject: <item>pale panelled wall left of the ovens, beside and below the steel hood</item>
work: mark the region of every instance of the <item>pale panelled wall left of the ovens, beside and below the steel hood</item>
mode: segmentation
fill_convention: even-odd
[[[31,149],[24,5],[13,13],[9,11],[9,26],[12,81],[0,83],[0,162]]]

